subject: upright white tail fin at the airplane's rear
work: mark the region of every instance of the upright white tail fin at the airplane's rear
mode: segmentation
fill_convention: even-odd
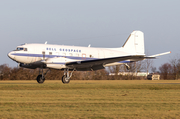
[[[144,55],[144,33],[133,31],[122,47],[125,52]]]

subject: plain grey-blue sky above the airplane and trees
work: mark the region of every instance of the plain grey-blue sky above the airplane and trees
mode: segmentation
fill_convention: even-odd
[[[16,67],[8,52],[24,43],[121,47],[134,30],[144,32],[146,55],[179,56],[179,0],[1,0],[0,65]]]

